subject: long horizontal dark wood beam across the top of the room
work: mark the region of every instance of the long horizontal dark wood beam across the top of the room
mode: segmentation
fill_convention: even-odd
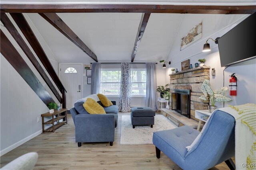
[[[198,6],[198,5],[142,5],[142,4],[1,4],[1,12],[62,13],[62,12],[138,12],[177,14],[252,14],[256,6]]]

